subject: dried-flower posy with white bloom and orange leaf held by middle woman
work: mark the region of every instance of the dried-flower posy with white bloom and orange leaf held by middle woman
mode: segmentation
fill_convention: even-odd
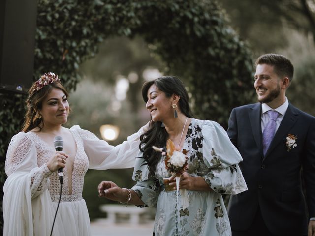
[[[181,175],[185,172],[186,166],[188,164],[188,158],[186,156],[187,150],[183,151],[177,150],[172,140],[168,139],[166,144],[166,151],[163,148],[152,147],[155,151],[162,152],[165,156],[165,167],[176,177],[176,189],[177,189],[177,199],[179,193],[179,182]],[[189,206],[189,199],[186,193],[186,189],[181,189],[182,205],[183,209]],[[178,202],[178,201],[177,201]]]

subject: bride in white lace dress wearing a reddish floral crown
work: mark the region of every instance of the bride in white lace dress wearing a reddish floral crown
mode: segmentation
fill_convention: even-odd
[[[22,132],[7,151],[3,191],[4,236],[50,235],[59,201],[57,170],[63,168],[63,187],[53,235],[89,236],[90,219],[82,198],[87,170],[130,168],[139,152],[142,127],[114,147],[78,125],[64,128],[69,114],[68,93],[58,76],[47,73],[29,91]],[[63,151],[55,151],[55,136]]]

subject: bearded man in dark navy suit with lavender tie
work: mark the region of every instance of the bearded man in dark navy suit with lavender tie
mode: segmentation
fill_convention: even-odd
[[[315,236],[315,118],[286,98],[292,77],[284,56],[260,56],[254,82],[259,102],[231,112],[227,133],[243,157],[248,186],[229,201],[232,236]]]

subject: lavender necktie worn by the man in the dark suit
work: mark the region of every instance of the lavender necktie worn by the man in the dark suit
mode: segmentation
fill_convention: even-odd
[[[262,132],[262,148],[264,150],[264,155],[266,154],[271,140],[273,139],[275,132],[276,132],[276,119],[279,116],[277,111],[269,110],[269,122],[267,123],[264,131]]]

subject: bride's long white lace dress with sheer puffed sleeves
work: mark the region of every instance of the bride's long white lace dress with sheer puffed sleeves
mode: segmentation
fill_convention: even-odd
[[[67,168],[63,169],[62,198],[53,235],[89,236],[89,213],[82,198],[84,175],[89,168],[105,170],[133,167],[142,130],[116,147],[99,140],[78,125],[70,131],[77,145],[77,153],[72,179],[68,178]],[[20,132],[13,136],[5,161],[8,178],[3,187],[4,236],[50,235],[60,184],[58,173],[51,173],[45,163],[54,152],[34,132]]]

